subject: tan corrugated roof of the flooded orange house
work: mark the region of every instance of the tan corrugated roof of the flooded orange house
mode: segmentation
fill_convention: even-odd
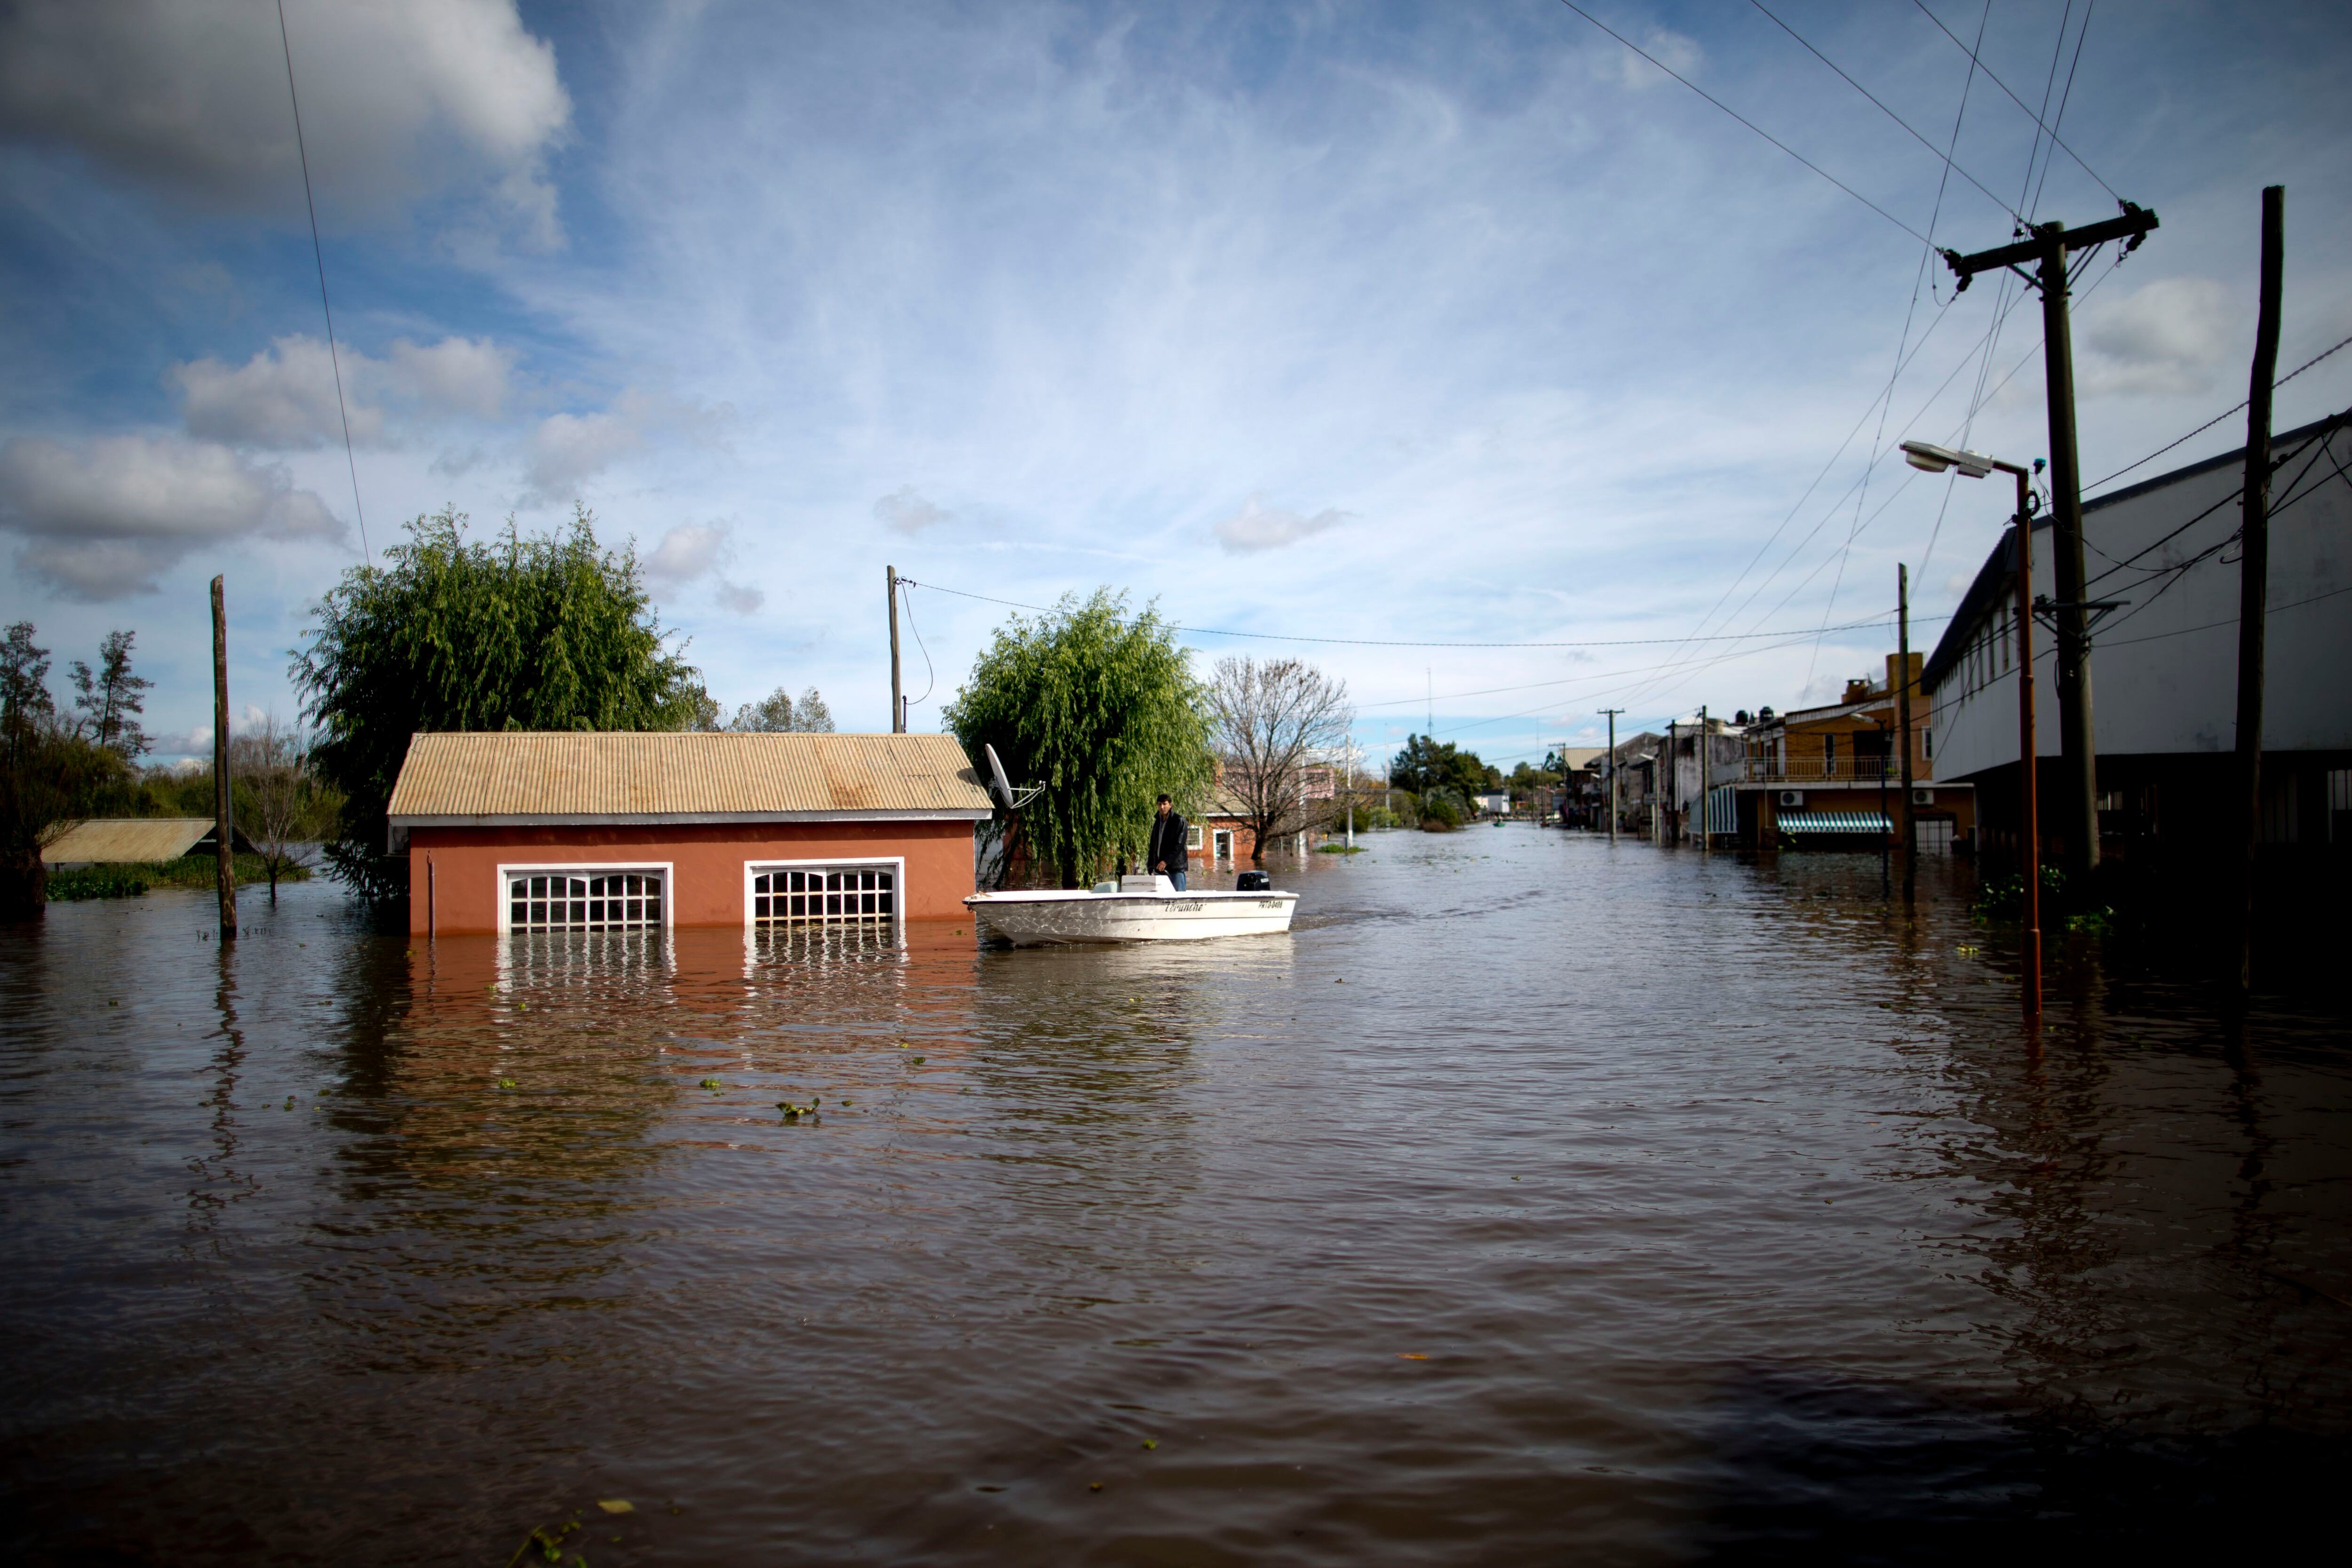
[[[990,813],[955,736],[729,731],[419,733],[395,825]]]

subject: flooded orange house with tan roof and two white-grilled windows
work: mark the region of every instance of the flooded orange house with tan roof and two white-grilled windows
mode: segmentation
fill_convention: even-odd
[[[409,931],[962,919],[990,802],[955,736],[419,733]]]

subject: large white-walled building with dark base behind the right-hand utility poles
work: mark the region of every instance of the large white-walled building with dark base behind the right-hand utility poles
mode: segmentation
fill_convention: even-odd
[[[2352,435],[2336,421],[2274,440],[2263,839],[2352,844]],[[2244,454],[2084,503],[2098,832],[2114,856],[2218,856],[2237,804],[2237,609]],[[2037,597],[2056,597],[2049,520],[2034,524]],[[2034,628],[2034,755],[2044,856],[2067,853],[2056,637]],[[1985,557],[1926,661],[1938,771],[1978,785],[1978,839],[2016,853],[2018,672],[2013,529]]]

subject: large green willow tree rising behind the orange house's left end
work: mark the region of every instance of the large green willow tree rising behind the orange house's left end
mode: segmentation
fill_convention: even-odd
[[[386,806],[430,729],[684,729],[696,672],[666,644],[630,548],[595,517],[524,538],[466,538],[463,512],[407,524],[388,567],[353,567],[325,599],[292,677],[318,726],[310,766],[343,792],[327,865],[372,900],[407,893],[386,858]]]

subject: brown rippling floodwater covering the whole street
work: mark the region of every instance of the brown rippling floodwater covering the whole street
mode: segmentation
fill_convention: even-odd
[[[1964,867],[1367,842],[1202,947],[0,933],[0,1547],[1980,1561],[2338,1493],[2340,1011],[2056,943],[2034,1051]]]

